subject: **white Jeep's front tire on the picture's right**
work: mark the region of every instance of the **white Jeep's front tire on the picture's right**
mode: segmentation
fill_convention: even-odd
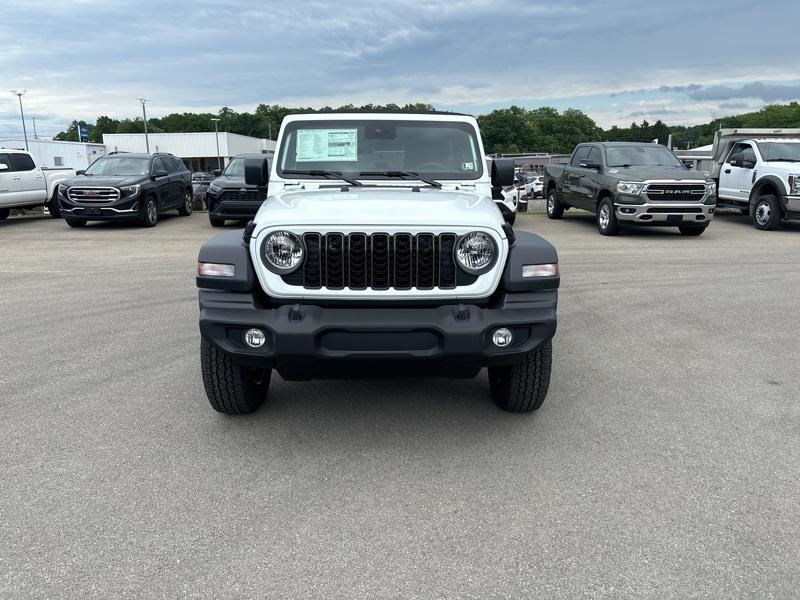
[[[531,412],[542,405],[550,386],[553,342],[547,340],[518,365],[489,367],[492,400],[508,412]]]

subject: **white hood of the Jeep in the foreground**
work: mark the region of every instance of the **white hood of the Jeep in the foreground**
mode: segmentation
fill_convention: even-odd
[[[503,217],[486,195],[421,188],[350,187],[282,192],[267,198],[256,215],[264,227],[488,227],[502,237]]]

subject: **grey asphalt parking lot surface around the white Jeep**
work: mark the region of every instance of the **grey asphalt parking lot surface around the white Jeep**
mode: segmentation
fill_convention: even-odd
[[[0,222],[0,597],[796,597],[800,227],[559,250],[550,394],[276,376],[209,407],[205,215]]]

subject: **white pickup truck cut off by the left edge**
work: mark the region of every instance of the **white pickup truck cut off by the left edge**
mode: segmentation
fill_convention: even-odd
[[[74,175],[72,169],[42,169],[30,152],[0,148],[0,221],[12,208],[37,206],[58,217],[58,184]]]

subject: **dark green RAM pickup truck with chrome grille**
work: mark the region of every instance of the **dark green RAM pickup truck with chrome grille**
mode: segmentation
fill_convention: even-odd
[[[665,146],[630,142],[579,144],[567,165],[547,165],[547,216],[582,208],[602,235],[622,225],[677,227],[700,235],[716,208],[716,184],[687,169]]]

